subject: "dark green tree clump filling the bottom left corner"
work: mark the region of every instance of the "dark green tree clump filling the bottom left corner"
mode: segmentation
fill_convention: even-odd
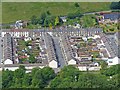
[[[44,88],[55,77],[50,67],[36,67],[30,73],[25,72],[25,67],[21,65],[15,71],[3,71],[3,88]]]

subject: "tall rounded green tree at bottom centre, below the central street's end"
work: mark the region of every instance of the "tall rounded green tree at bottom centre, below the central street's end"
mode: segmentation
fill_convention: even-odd
[[[78,79],[80,72],[74,66],[65,66],[59,74],[51,81],[50,87],[52,88],[65,88],[65,87],[72,87],[72,83]],[[75,78],[77,77],[77,78]]]

